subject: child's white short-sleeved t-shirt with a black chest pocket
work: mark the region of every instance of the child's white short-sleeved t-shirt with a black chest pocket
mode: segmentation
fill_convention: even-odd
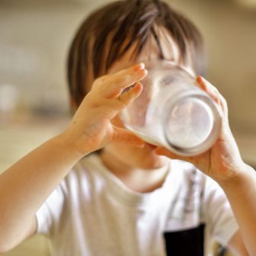
[[[200,256],[211,238],[226,245],[238,225],[219,185],[187,162],[162,168],[162,187],[140,194],[98,155],[83,158],[38,210],[37,232],[58,256]]]

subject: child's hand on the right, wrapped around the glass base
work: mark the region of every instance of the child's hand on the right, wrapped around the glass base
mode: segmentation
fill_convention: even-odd
[[[191,162],[205,174],[216,181],[226,181],[243,170],[245,163],[242,162],[235,139],[229,128],[228,107],[226,100],[219,94],[219,91],[201,76],[197,77],[197,84],[203,91],[206,91],[222,110],[222,124],[219,137],[214,145],[200,155],[184,157],[174,154],[168,149],[158,147],[155,152],[158,155],[165,155],[169,158],[181,159]]]

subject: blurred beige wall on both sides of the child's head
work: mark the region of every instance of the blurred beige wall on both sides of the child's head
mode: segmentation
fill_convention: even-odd
[[[0,88],[13,86],[19,106],[65,113],[66,51],[83,16],[101,2],[107,1],[2,1]],[[170,2],[204,34],[208,78],[229,101],[233,129],[256,133],[256,10],[231,0]]]

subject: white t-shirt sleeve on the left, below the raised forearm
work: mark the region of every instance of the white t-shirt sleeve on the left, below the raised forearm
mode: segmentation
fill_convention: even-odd
[[[37,233],[50,235],[53,232],[54,225],[62,214],[64,203],[64,187],[59,184],[36,213]]]

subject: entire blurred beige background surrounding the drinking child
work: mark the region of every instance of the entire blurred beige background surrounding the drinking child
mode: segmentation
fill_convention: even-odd
[[[69,120],[66,53],[107,0],[0,0],[0,173]],[[206,78],[224,95],[245,162],[256,166],[256,0],[169,0],[206,41]],[[8,195],[6,195],[8,197]],[[5,255],[47,255],[33,238]]]

